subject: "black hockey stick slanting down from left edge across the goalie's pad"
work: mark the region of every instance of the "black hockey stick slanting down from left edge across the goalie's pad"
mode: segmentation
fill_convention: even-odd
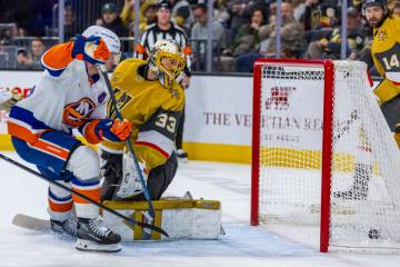
[[[111,208],[109,208],[109,207],[107,207],[107,206],[104,206],[104,205],[102,205],[102,204],[97,202],[96,200],[93,200],[93,199],[84,196],[84,195],[81,194],[81,192],[78,192],[78,191],[76,191],[76,190],[73,190],[73,189],[71,189],[71,188],[69,188],[69,187],[67,187],[67,186],[64,186],[64,185],[58,184],[57,181],[54,181],[54,180],[52,180],[52,179],[43,176],[42,174],[39,174],[39,172],[36,171],[36,170],[32,170],[31,168],[29,168],[29,167],[27,167],[27,166],[24,166],[24,165],[22,165],[22,164],[20,164],[20,162],[18,162],[18,161],[16,161],[16,160],[9,158],[9,157],[7,157],[7,156],[3,155],[3,154],[0,154],[0,158],[2,158],[3,160],[12,164],[13,166],[17,166],[17,167],[19,167],[19,168],[28,171],[28,172],[31,174],[31,175],[34,175],[34,176],[37,176],[37,177],[39,177],[39,178],[41,178],[41,179],[50,182],[51,185],[54,185],[54,186],[57,186],[57,187],[59,187],[59,188],[62,188],[62,189],[64,189],[66,191],[69,191],[69,192],[73,194],[73,195],[76,195],[76,196],[78,196],[78,197],[80,197],[80,198],[83,198],[84,200],[93,204],[94,206],[97,206],[97,207],[99,207],[99,208],[102,208],[103,210],[107,210],[108,212],[110,212],[110,214],[112,214],[112,215],[114,215],[114,216],[117,216],[117,217],[126,220],[126,222],[128,222],[128,225],[138,225],[138,226],[140,226],[140,227],[142,227],[142,228],[148,228],[148,229],[158,231],[158,233],[164,235],[166,237],[169,237],[168,234],[167,234],[164,230],[162,230],[160,227],[157,227],[157,226],[153,226],[153,225],[150,225],[150,224],[146,224],[146,222],[141,222],[141,221],[138,221],[138,220],[136,220],[136,219],[133,219],[133,218],[130,218],[130,217],[127,217],[127,216],[124,216],[124,215],[121,215],[120,212],[117,212],[116,210],[113,210],[113,209],[111,209]],[[131,228],[131,227],[130,227],[130,228]]]

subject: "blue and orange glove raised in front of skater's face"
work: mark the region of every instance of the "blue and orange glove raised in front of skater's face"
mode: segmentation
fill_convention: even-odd
[[[110,57],[110,51],[100,37],[86,38],[83,36],[77,36],[73,43],[72,57],[83,59],[91,65],[104,63]]]

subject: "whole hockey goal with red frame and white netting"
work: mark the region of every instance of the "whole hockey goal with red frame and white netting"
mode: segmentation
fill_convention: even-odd
[[[254,63],[251,225],[319,227],[329,248],[400,249],[399,150],[356,61]]]

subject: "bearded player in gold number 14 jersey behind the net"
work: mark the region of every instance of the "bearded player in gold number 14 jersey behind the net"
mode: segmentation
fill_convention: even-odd
[[[383,78],[374,93],[400,147],[400,19],[390,14],[387,0],[364,0],[362,13],[373,28],[371,53]]]

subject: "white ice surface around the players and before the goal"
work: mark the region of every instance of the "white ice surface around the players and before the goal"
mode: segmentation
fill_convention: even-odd
[[[16,154],[6,154],[18,159]],[[306,231],[276,234],[249,226],[250,166],[189,161],[166,192],[222,201],[227,235],[220,240],[141,241],[124,244],[119,254],[82,253],[73,241],[11,225],[14,214],[47,218],[47,184],[0,159],[0,266],[400,266],[400,255],[334,251],[322,255],[317,244],[301,241]],[[308,231],[312,233],[312,231]],[[316,239],[314,237],[310,238]]]

